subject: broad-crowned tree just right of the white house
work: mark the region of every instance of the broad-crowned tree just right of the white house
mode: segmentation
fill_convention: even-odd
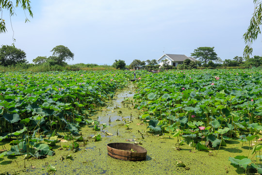
[[[214,52],[214,47],[199,47],[194,50],[194,53],[191,53],[191,56],[199,61],[207,64],[210,60],[217,60],[217,54]]]

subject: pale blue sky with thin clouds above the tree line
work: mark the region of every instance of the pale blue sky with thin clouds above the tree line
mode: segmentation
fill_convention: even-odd
[[[222,60],[243,56],[254,12],[253,0],[31,0],[31,6],[33,18],[20,8],[11,18],[15,46],[30,63],[64,45],[75,55],[68,64],[98,65],[191,56],[198,47],[214,47]],[[0,34],[0,45],[11,45],[9,14],[2,18],[8,32]],[[262,35],[252,47],[262,56]]]

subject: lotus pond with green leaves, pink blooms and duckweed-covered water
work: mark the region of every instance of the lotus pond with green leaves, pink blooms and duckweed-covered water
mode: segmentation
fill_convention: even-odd
[[[0,173],[261,173],[262,70],[136,74],[0,73]],[[108,157],[110,142],[147,160]]]

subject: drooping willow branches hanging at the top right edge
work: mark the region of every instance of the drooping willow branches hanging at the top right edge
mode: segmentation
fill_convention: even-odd
[[[260,27],[262,25],[262,0],[254,0],[255,8],[253,17],[250,19],[250,24],[246,33],[243,35],[245,39],[246,47],[244,49],[244,58],[249,59],[249,55],[252,55],[253,48],[252,42],[255,41],[259,34],[261,34]]]

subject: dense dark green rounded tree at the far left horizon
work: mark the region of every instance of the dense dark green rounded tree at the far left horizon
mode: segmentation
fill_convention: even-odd
[[[0,48],[0,65],[10,66],[26,63],[26,53],[14,46],[2,45]]]

